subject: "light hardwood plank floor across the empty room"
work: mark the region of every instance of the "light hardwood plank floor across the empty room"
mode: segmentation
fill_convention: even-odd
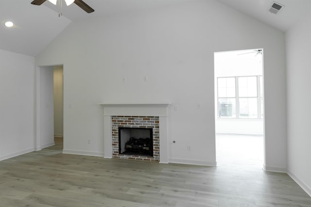
[[[66,155],[56,143],[0,162],[0,207],[311,207],[287,174],[261,166]]]

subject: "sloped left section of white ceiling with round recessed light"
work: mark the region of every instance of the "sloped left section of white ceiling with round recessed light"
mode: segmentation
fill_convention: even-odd
[[[35,56],[71,21],[58,18],[46,6],[30,4],[31,0],[0,0],[0,49]],[[3,24],[11,20],[12,28]]]

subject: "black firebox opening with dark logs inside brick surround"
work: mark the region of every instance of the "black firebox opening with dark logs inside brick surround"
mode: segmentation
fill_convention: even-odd
[[[119,127],[119,154],[153,156],[153,129]]]

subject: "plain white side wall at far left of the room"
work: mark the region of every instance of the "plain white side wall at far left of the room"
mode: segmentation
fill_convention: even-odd
[[[35,149],[35,58],[0,50],[0,160]]]

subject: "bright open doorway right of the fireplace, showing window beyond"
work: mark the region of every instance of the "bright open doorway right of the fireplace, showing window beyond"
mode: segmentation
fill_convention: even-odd
[[[261,169],[263,49],[215,52],[214,63],[217,163]]]

